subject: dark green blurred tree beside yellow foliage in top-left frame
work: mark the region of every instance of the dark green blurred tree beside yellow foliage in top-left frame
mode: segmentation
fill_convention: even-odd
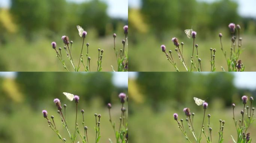
[[[49,19],[49,1],[47,0],[12,0],[10,12],[27,36],[31,32],[45,27]]]

